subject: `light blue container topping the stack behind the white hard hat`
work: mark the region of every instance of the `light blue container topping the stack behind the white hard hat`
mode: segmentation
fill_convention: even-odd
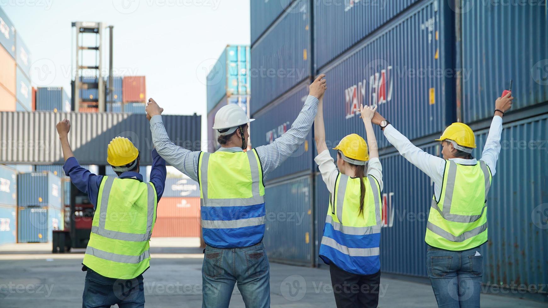
[[[224,96],[248,95],[249,46],[227,45],[207,76],[207,112]]]

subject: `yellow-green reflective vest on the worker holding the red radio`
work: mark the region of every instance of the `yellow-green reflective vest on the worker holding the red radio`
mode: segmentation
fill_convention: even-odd
[[[460,165],[446,161],[439,200],[432,197],[425,241],[430,246],[463,251],[487,241],[487,194],[491,171],[485,162]]]

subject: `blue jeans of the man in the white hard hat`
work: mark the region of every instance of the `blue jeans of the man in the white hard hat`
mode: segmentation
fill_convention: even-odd
[[[228,307],[236,282],[246,307],[270,307],[269,269],[262,242],[233,249],[206,246],[202,266],[202,307]]]

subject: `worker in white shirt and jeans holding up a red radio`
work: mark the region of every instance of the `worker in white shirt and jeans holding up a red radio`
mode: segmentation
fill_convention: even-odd
[[[472,157],[474,132],[464,123],[449,125],[436,139],[443,147],[440,158],[415,147],[379,113],[373,118],[399,154],[434,183],[426,224],[426,270],[439,307],[479,307],[481,245],[487,242],[487,194],[500,154],[503,115],[512,100],[511,92],[496,99],[479,160]]]

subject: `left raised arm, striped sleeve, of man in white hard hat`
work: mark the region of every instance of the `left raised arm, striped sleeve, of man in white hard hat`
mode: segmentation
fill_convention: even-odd
[[[169,140],[168,133],[165,131],[162,121],[163,111],[163,108],[160,108],[152,98],[149,98],[146,106],[146,118],[150,121],[150,131],[152,132],[154,147],[169,165],[185,173],[185,175],[194,181],[198,181],[198,157],[200,152],[192,152],[191,150],[176,146]]]

